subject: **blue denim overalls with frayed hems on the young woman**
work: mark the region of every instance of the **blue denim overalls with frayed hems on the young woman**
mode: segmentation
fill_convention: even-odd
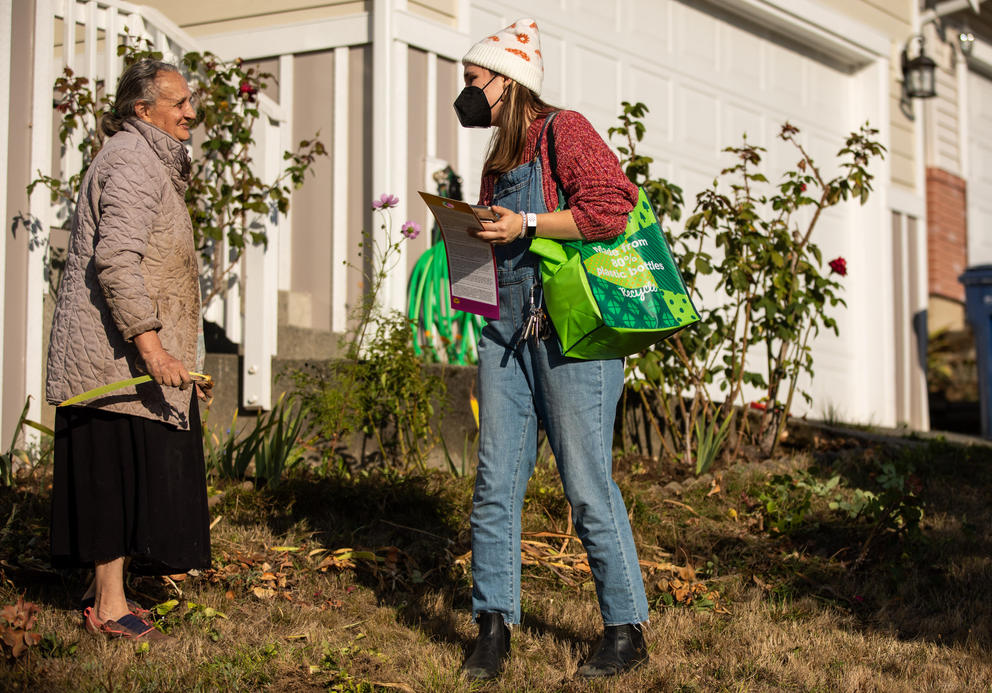
[[[544,124],[554,118],[548,117]],[[543,213],[542,129],[534,160],[496,181],[493,204]],[[547,340],[518,339],[531,302],[540,304],[530,241],[496,247],[500,318],[479,340],[479,468],[472,506],[472,614],[520,622],[520,518],[537,456],[538,418],[558,465],[575,529],[589,555],[605,625],[648,619],[627,510],[613,481],[613,421],[623,359],[583,361]]]

